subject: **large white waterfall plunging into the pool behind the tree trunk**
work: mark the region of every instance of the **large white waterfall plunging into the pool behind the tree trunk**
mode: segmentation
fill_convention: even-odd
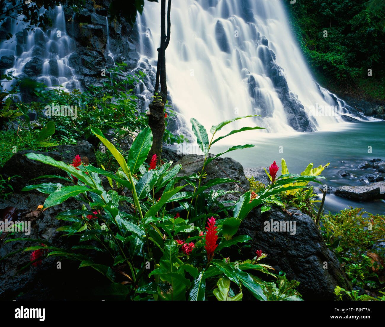
[[[142,55],[139,67],[152,66],[154,71],[160,5],[145,5],[137,25]],[[311,125],[308,130],[330,129],[342,122],[341,114],[348,113],[344,101],[315,83],[280,1],[173,0],[166,71],[167,88],[180,112],[182,129],[190,130],[191,117],[209,129],[225,119],[258,114],[263,117],[256,122],[267,131],[292,133],[285,108],[288,103],[283,103],[277,86],[281,83],[284,89],[286,82],[287,94],[294,100],[291,104],[304,106],[303,116]],[[244,124],[238,121],[232,127]],[[253,131],[253,135],[260,132]]]

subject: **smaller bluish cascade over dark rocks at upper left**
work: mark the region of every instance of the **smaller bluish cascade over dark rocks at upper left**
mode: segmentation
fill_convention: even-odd
[[[39,14],[44,12],[42,7]],[[22,18],[20,15],[8,17],[3,21],[3,24],[9,26],[13,37],[7,42],[2,42],[0,57],[15,56],[13,67],[5,69],[4,73],[12,72],[13,76],[20,77],[27,70],[28,76],[37,77],[38,82],[49,87],[63,85],[65,90],[79,89],[80,82],[69,64],[69,56],[75,51],[75,43],[67,35],[63,7],[58,6],[52,10],[53,26],[45,32],[40,28],[27,32],[25,25],[20,23]],[[33,59],[35,57],[36,59]],[[31,59],[34,61],[28,65]],[[2,83],[2,89],[9,91],[11,86],[12,82]]]

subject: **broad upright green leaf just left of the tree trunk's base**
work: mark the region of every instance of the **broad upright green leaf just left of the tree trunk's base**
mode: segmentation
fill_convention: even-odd
[[[135,174],[142,163],[147,159],[151,145],[152,132],[149,127],[146,127],[135,138],[135,141],[132,143],[128,153],[128,165],[130,167],[131,174]]]

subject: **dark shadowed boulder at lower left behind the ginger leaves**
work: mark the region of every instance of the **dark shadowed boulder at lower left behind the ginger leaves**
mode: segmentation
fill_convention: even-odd
[[[26,194],[11,195],[9,200],[0,201],[0,220],[4,220],[3,211],[7,207],[13,207],[20,212],[19,221],[30,223],[30,234],[21,232],[15,235],[8,234],[5,240],[12,238],[42,239],[48,241],[52,246],[69,249],[77,244],[76,238],[60,237],[63,232],[56,231],[60,226],[67,225],[67,221],[57,220],[55,217],[60,212],[70,209],[81,209],[78,201],[67,200],[44,212],[37,217],[25,217],[25,212],[35,210],[39,204],[43,204],[45,196]],[[18,215],[20,216],[20,215]],[[24,217],[23,217],[24,216]],[[28,216],[28,215],[27,215]],[[4,235],[4,234],[3,234]],[[70,261],[54,256],[42,259],[41,265],[36,267],[30,265],[31,251],[20,252],[18,250],[38,243],[31,241],[13,241],[4,243],[0,239],[0,258],[4,258],[12,252],[5,260],[0,261],[0,300],[90,300],[103,296],[92,294],[94,283],[104,283],[104,277],[94,269],[79,268],[79,261]],[[60,269],[58,262],[60,261]],[[92,280],[90,285],[84,285],[84,280]]]

